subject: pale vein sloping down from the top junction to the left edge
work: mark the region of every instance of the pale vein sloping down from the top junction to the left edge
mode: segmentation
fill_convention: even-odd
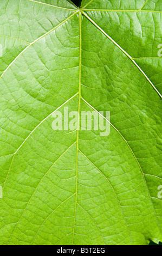
[[[78,13],[79,10],[75,11],[75,13],[73,13],[72,15],[70,15],[69,17],[67,17],[66,20],[62,21],[59,25],[57,25],[56,27],[54,27],[53,29],[51,29],[50,31],[48,31],[46,34],[43,34],[40,36],[40,38],[37,38],[35,41],[31,42],[27,47],[24,48],[24,50],[18,54],[18,56],[10,63],[10,65],[7,67],[7,69],[5,69],[3,71],[3,74],[0,76],[0,79],[3,77],[3,75],[5,74],[5,72],[7,72],[7,70],[10,68],[10,66],[15,63],[15,61],[18,59],[18,57],[20,57],[31,45],[34,45],[35,42],[37,42],[38,40],[42,39],[44,36],[48,35],[49,33],[53,32],[56,28],[59,28],[63,23],[65,23],[66,21],[68,21],[69,19],[71,19],[76,13]]]

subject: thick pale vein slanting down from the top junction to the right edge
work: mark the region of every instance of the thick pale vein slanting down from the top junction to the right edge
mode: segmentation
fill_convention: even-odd
[[[153,89],[158,93],[158,95],[159,95],[159,96],[161,97],[161,99],[162,99],[162,96],[161,96],[161,94],[159,93],[159,91],[157,90],[157,88],[155,88],[154,84],[153,84],[153,83],[151,82],[151,80],[146,76],[145,72],[144,72],[144,71],[140,68],[140,66],[134,61],[134,59],[132,59],[132,57],[131,57],[120,45],[118,45],[118,44],[111,38],[111,36],[109,36],[109,35],[108,35],[105,31],[103,31],[103,29],[100,28],[92,19],[90,19],[90,17],[89,17],[86,13],[84,13],[84,12],[82,11],[82,14],[85,15],[85,17],[86,17],[90,22],[92,22],[92,24],[93,24],[96,28],[98,28],[109,40],[111,40],[115,46],[117,46],[123,53],[125,53],[126,56],[127,56],[129,59],[131,59],[131,61],[133,62],[133,64],[134,64],[135,66],[137,66],[137,68],[139,69],[139,71],[145,76],[145,78],[147,79],[147,81],[151,84],[151,86],[153,87]]]

